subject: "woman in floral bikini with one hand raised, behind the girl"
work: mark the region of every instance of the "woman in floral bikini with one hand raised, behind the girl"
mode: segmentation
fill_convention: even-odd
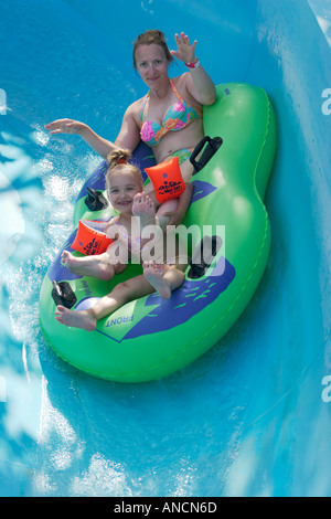
[[[158,163],[178,156],[183,179],[189,182],[193,172],[189,158],[203,138],[202,106],[215,102],[216,91],[195,56],[196,41],[191,45],[183,32],[174,38],[177,51],[169,51],[164,34],[158,30],[140,34],[134,43],[134,65],[149,93],[127,108],[115,142],[73,119],[58,119],[45,128],[51,134],[78,134],[105,159],[118,148],[134,151],[142,139],[153,149]],[[186,64],[188,72],[170,80],[168,72],[173,56]],[[147,186],[145,191],[152,191],[152,186]],[[185,211],[186,206],[179,203],[169,223],[180,223]]]

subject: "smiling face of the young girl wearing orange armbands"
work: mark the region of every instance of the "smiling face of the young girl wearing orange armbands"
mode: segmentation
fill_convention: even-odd
[[[114,171],[107,191],[114,209],[122,214],[132,214],[134,197],[141,193],[142,184],[130,171]]]

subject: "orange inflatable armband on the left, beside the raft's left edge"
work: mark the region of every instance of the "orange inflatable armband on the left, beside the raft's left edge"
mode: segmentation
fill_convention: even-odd
[[[72,248],[87,256],[106,252],[110,243],[113,243],[113,240],[102,231],[105,225],[105,222],[79,220],[77,234],[72,244]]]

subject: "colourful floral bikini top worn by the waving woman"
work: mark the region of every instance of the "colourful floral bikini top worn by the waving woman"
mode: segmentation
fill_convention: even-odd
[[[164,114],[162,125],[159,125],[158,123],[154,123],[152,120],[146,120],[145,123],[142,123],[142,115],[147,99],[149,97],[149,93],[145,96],[145,99],[142,102],[142,107],[140,112],[140,137],[143,142],[151,146],[152,148],[160,144],[161,138],[168,131],[178,131],[182,128],[185,128],[185,126],[188,126],[191,120],[202,118],[202,110],[195,108],[194,106],[190,106],[178,93],[171,80],[170,85],[179,100],[168,108]]]

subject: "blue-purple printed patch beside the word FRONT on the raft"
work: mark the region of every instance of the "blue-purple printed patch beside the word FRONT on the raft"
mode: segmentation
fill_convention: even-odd
[[[162,299],[157,294],[149,296],[145,307],[159,306],[152,308],[149,315],[137,322],[124,339],[135,339],[143,335],[169,330],[186,322],[226,290],[235,278],[236,272],[234,266],[221,256],[212,274],[202,279],[185,279],[183,286],[173,292],[170,299]]]

